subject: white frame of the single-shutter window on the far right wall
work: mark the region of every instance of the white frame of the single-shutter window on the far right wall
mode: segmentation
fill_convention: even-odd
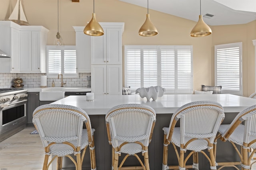
[[[218,49],[228,49],[228,48],[236,48],[239,47],[239,90],[228,90],[223,87],[223,84],[218,84],[217,80],[217,50]],[[235,94],[235,95],[243,95],[243,74],[242,74],[242,42],[238,43],[228,43],[228,44],[220,44],[214,45],[214,84],[215,86],[222,86],[221,93],[223,94]]]

